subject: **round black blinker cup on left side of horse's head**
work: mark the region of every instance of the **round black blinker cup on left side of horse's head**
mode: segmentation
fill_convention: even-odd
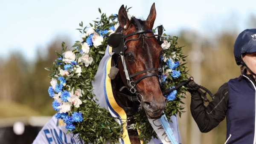
[[[124,34],[121,32],[113,33],[108,37],[108,45],[112,46],[112,52],[123,55],[125,41],[124,37]]]

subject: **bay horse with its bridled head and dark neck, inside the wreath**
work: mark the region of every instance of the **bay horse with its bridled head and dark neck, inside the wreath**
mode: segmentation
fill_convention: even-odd
[[[146,20],[128,17],[122,5],[118,12],[119,28],[108,38],[112,46],[112,67],[119,69],[111,78],[113,95],[125,110],[127,123],[133,124],[133,115],[144,109],[148,118],[157,119],[166,107],[166,98],[160,89],[159,75],[162,47],[152,31],[156,18],[155,5]],[[136,130],[128,130],[131,144],[140,144]]]

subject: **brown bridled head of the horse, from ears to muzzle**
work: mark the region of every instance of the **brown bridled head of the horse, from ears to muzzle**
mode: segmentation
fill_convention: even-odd
[[[119,33],[112,36],[118,38],[117,40],[110,38],[112,43],[113,41],[117,43],[113,44],[115,45],[113,51],[119,53],[121,59],[118,60],[117,67],[122,82],[131,93],[135,93],[140,98],[140,106],[149,118],[160,118],[166,107],[166,98],[161,92],[159,82],[162,48],[152,31],[155,18],[154,3],[146,20],[135,17],[131,17],[130,20],[122,5],[118,13]]]

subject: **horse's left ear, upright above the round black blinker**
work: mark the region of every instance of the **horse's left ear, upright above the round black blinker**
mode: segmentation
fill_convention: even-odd
[[[119,9],[118,12],[118,21],[119,21],[119,25],[123,28],[123,29],[127,29],[128,28],[128,23],[129,23],[129,18],[127,15],[127,12],[125,10],[124,5],[122,5]]]

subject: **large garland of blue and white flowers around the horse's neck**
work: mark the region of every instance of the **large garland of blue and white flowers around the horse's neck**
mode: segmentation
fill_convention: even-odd
[[[96,104],[96,95],[92,93],[93,86],[91,82],[98,69],[100,60],[105,54],[108,45],[107,39],[119,26],[117,15],[112,14],[107,17],[105,13],[101,13],[99,21],[94,21],[94,25],[90,23],[90,28],[83,27],[83,23],[79,23],[81,29],[81,40],[76,41],[71,50],[67,50],[65,43],[62,43],[62,53],[56,52],[58,58],[54,61],[50,71],[51,78],[48,89],[49,96],[54,99],[52,107],[57,111],[55,117],[62,119],[66,124],[69,132],[79,134],[84,143],[119,143],[122,136],[121,125],[119,125],[108,110],[99,107]],[[87,29],[87,31],[86,31]],[[163,75],[160,79],[163,81],[162,89],[172,88],[178,85],[180,81],[187,79],[186,67],[184,66],[185,57],[181,51],[182,47],[176,47],[177,37],[170,37],[163,34]],[[165,95],[168,99],[165,114],[167,117],[179,113],[181,115],[180,98],[186,88],[174,90],[169,95]],[[145,112],[141,111],[136,117],[135,128],[141,132],[139,138],[144,143],[150,141],[152,135],[156,134],[148,120]]]

